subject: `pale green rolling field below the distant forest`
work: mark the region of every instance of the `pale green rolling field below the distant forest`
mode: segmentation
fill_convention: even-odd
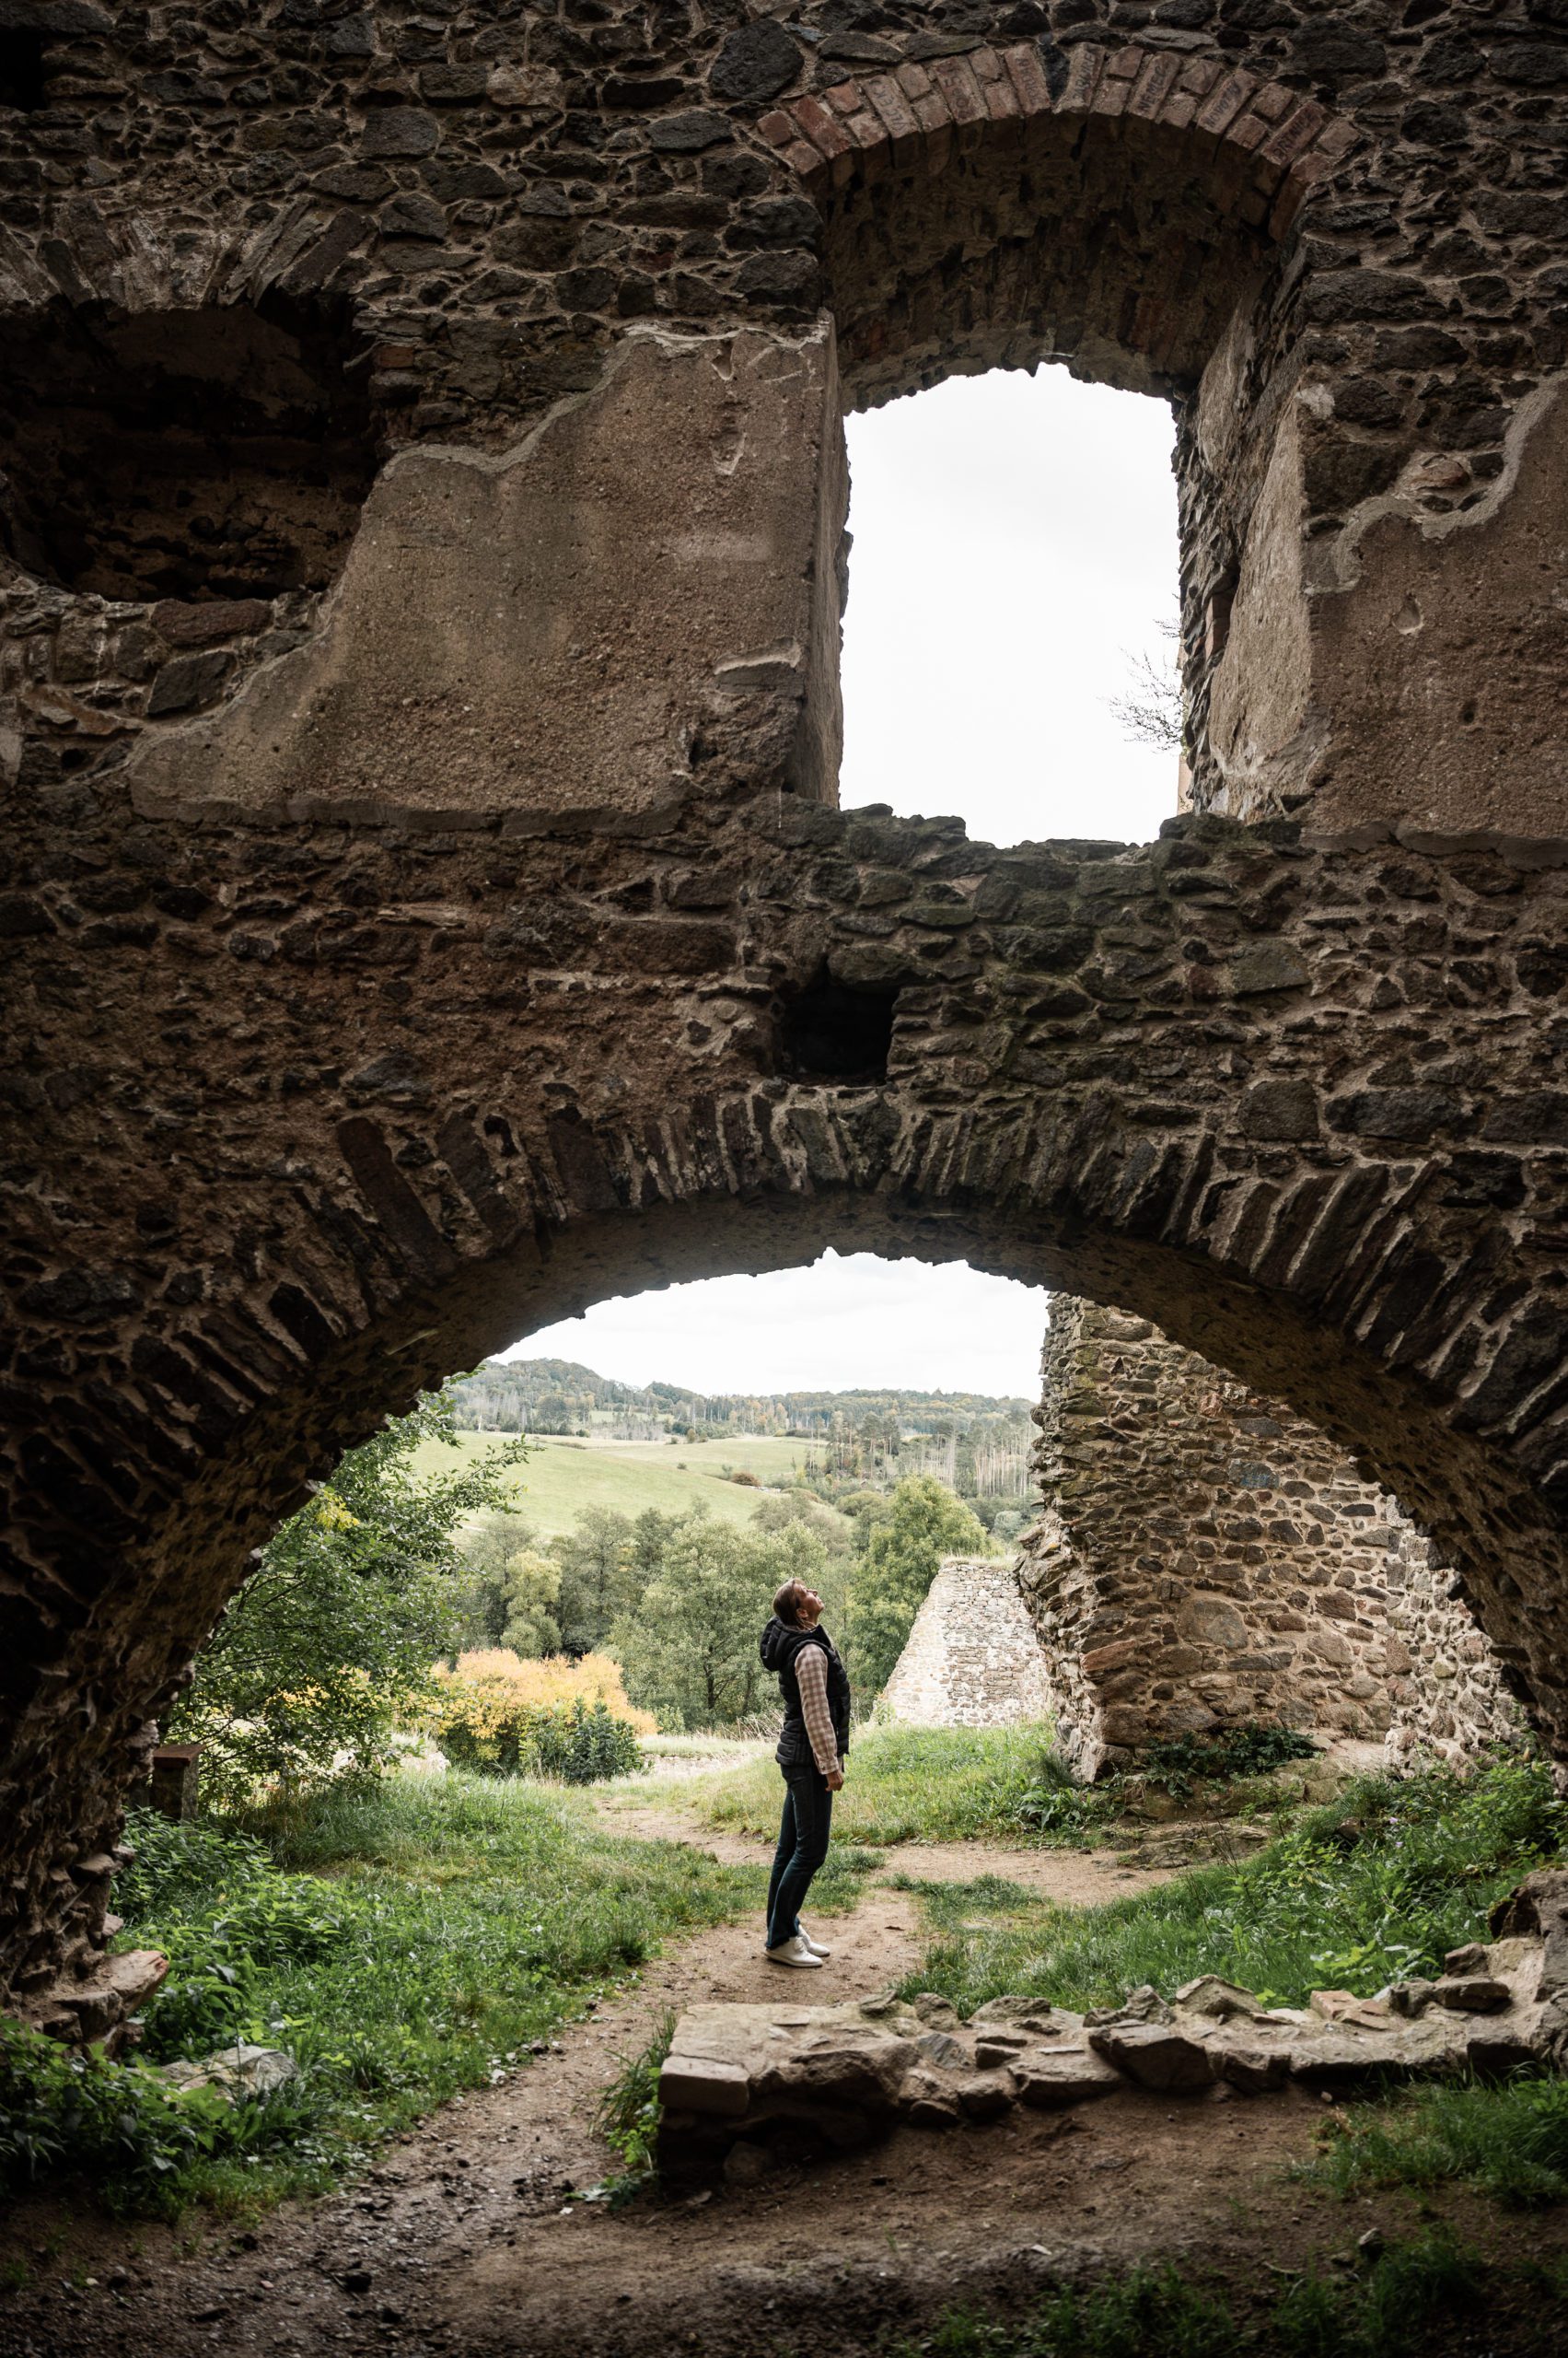
[[[462,1455],[472,1460],[493,1450],[512,1434],[460,1434]],[[804,1441],[535,1441],[526,1467],[516,1471],[516,1511],[533,1523],[540,1540],[571,1530],[585,1507],[613,1507],[618,1514],[686,1514],[698,1500],[726,1523],[750,1523],[757,1490],[724,1481],[724,1467],[745,1467],[762,1483],[788,1490],[795,1467],[804,1460]],[[450,1474],[453,1450],[427,1441],[415,1455],[420,1474]],[[844,1526],[849,1537],[849,1523]]]

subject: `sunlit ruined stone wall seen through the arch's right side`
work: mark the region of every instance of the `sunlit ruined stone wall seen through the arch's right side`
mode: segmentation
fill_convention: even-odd
[[[1304,1417],[1063,1297],[1042,1377],[1021,1580],[1087,1773],[1243,1719],[1396,1757],[1516,1731],[1455,1573]]]

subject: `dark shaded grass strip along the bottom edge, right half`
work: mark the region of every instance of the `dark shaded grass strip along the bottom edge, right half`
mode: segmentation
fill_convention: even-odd
[[[1012,2323],[953,2313],[920,2341],[894,2341],[887,2358],[1405,2358],[1474,2349],[1460,2337],[1476,2318],[1488,2349],[1547,2351],[1561,2292],[1561,2268],[1493,2268],[1434,2228],[1351,2275],[1306,2273],[1252,2297],[1191,2283],[1174,2266],[1134,2268],[1047,2292]],[[1507,2344],[1490,2339],[1502,2301],[1518,2320]]]

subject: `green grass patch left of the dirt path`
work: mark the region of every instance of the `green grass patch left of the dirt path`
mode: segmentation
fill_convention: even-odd
[[[762,1868],[604,1835],[587,1804],[495,1778],[389,1778],[250,1837],[141,1813],[132,1842],[123,1943],[174,1957],[144,2056],[241,2035],[283,2047],[302,2080],[182,2115],[139,2070],[68,2082],[59,2049],[17,2049],[38,2134],[0,2134],[0,2179],[85,2167],[108,2205],[165,2214],[325,2191],[431,2106],[526,2066],[663,1941],[759,1910],[764,1891]]]

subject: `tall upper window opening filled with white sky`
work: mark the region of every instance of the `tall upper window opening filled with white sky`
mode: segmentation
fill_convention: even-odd
[[[990,370],[846,436],[842,806],[1151,839],[1181,795],[1170,406]]]

